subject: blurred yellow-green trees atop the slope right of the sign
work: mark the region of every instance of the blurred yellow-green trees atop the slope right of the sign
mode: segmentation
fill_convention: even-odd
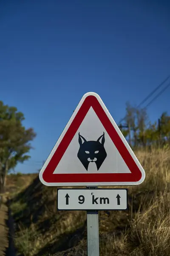
[[[158,125],[149,122],[146,108],[137,108],[126,102],[125,125],[119,125],[130,146],[160,146],[170,143],[170,116],[162,113]],[[122,130],[122,128],[127,128]]]

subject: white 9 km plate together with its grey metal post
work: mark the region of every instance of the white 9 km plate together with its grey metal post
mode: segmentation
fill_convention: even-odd
[[[88,256],[99,256],[98,210],[127,210],[127,189],[57,189],[57,210],[87,211]]]

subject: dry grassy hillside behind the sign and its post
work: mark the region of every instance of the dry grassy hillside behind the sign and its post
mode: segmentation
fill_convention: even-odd
[[[146,179],[127,187],[129,211],[99,212],[101,256],[170,255],[170,150],[136,155]],[[57,211],[56,196],[35,177],[11,200],[20,255],[87,255],[86,212]]]

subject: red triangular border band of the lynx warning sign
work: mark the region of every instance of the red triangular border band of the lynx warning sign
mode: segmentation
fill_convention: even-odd
[[[105,127],[105,130],[108,132],[111,140],[118,149],[131,173],[85,173],[85,174],[53,174],[56,169],[59,161],[61,160],[63,154],[65,153],[68,145],[71,143],[74,135],[76,134],[79,126],[81,125],[83,119],[85,118],[88,110],[92,107],[96,112],[96,115],[102,122],[102,125]],[[114,126],[109,120],[104,109],[100,105],[98,99],[93,96],[87,96],[82,103],[77,115],[74,117],[70,127],[65,133],[62,141],[58,145],[54,155],[52,156],[50,162],[46,166],[42,178],[47,183],[121,183],[121,182],[137,182],[141,179],[142,173],[139,167],[136,165],[129,151],[127,150],[125,144],[122,142],[119,134],[116,132]]]

